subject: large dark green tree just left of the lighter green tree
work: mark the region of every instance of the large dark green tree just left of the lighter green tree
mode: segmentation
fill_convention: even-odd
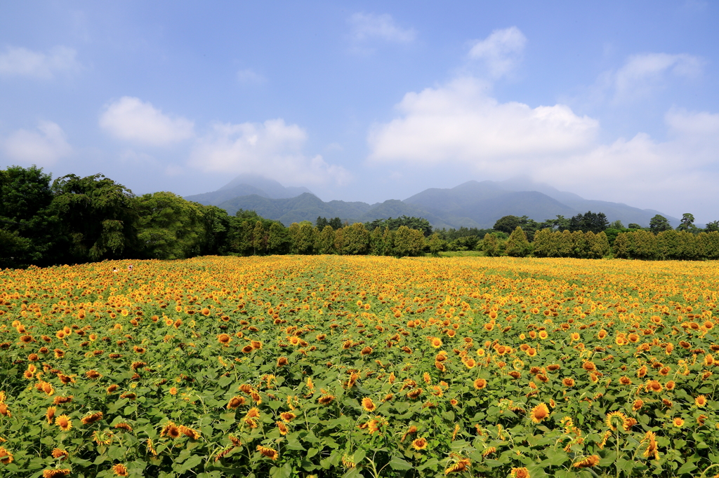
[[[137,248],[137,201],[132,191],[103,174],[68,174],[52,182],[50,209],[69,239],[68,261],[129,256]]]

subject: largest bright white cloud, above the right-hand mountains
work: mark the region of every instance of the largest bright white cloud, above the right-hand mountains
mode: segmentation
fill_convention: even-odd
[[[598,123],[563,105],[530,108],[487,97],[485,83],[459,78],[440,88],[407,93],[401,113],[370,131],[370,160],[469,164],[475,169],[521,167],[592,144]]]

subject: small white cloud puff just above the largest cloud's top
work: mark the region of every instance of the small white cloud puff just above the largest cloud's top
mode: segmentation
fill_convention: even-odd
[[[500,78],[521,61],[526,42],[517,27],[495,30],[489,37],[475,41],[468,56],[472,60],[483,60],[490,75]]]

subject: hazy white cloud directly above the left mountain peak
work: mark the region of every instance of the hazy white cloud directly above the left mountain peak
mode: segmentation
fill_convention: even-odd
[[[302,152],[306,132],[282,119],[265,123],[216,123],[198,139],[190,164],[206,172],[255,173],[291,184],[344,184],[349,173],[322,156]]]

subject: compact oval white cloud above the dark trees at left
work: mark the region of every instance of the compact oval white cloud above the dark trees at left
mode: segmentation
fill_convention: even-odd
[[[118,139],[150,146],[167,146],[194,136],[194,123],[170,118],[151,103],[123,96],[110,103],[100,116],[100,126]]]

